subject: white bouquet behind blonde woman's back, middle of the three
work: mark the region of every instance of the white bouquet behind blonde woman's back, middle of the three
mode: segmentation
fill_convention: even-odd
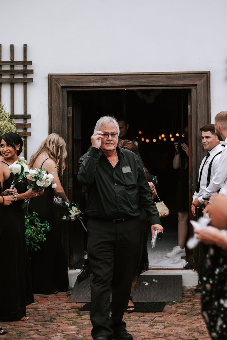
[[[53,172],[54,173],[54,172]],[[53,173],[46,173],[45,168],[35,168],[30,169],[30,177],[32,178],[32,184],[27,186],[27,189],[34,189],[41,191],[51,186],[53,189],[56,188],[56,183],[52,183],[53,181]],[[26,199],[22,204],[22,208],[25,208],[29,203],[30,199]]]

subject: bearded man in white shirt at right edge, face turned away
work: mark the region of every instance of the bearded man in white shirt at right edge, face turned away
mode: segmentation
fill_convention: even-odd
[[[205,189],[205,192],[202,196],[206,206],[202,212],[204,216],[207,212],[209,214],[210,203],[207,204],[207,202],[211,196],[213,196],[218,190],[220,190],[220,195],[227,196],[227,111],[222,111],[216,115],[214,120],[214,128],[218,138],[225,141],[225,147],[221,153],[218,170],[215,172],[212,181]]]

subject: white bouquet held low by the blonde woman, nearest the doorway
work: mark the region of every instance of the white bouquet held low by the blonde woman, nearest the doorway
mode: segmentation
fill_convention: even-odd
[[[82,222],[82,216],[80,216],[82,212],[79,209],[78,203],[75,203],[74,201],[64,202],[60,197],[57,197],[54,203],[63,208],[62,220],[75,221],[76,219],[78,219],[83,228],[87,231],[85,225]]]

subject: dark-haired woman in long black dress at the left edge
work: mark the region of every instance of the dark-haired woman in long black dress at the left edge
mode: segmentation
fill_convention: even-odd
[[[9,189],[14,175],[9,165],[17,160],[23,141],[16,133],[4,134],[0,140],[0,182],[2,190]],[[1,206],[0,224],[0,320],[25,321],[26,306],[34,302],[31,287],[30,263],[25,240],[25,213],[23,200],[40,195],[36,190],[27,190],[27,182],[16,183],[18,195],[8,206]],[[5,202],[8,198],[4,198]],[[0,198],[1,200],[1,198]]]

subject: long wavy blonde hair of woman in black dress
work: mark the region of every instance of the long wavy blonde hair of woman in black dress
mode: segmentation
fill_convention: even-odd
[[[37,157],[46,151],[49,157],[57,166],[58,173],[63,174],[65,169],[65,158],[67,156],[66,144],[64,139],[57,133],[51,133],[40,145],[38,151],[31,156],[30,167],[33,167]]]

